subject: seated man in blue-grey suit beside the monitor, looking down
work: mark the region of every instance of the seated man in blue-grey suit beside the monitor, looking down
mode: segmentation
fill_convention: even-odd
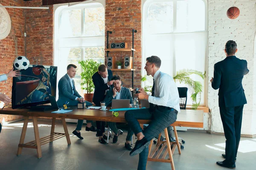
[[[67,66],[67,74],[61,77],[58,82],[58,106],[62,106],[66,102],[69,102],[70,106],[76,106],[79,102],[85,102],[87,106],[92,105],[92,103],[87,102],[84,98],[76,91],[76,86],[73,78],[76,76],[76,65],[70,64]],[[76,135],[79,139],[84,139],[81,136],[80,130],[82,128],[84,120],[78,120],[76,130],[72,133]],[[96,132],[96,128],[92,126],[93,121],[87,120],[87,125],[85,130]]]

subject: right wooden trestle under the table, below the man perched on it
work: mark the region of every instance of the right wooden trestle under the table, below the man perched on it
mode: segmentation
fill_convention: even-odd
[[[178,135],[177,135],[177,131],[176,131],[175,126],[173,126],[173,130],[174,130],[174,133],[175,133],[175,138],[178,139]],[[167,128],[164,129],[164,133],[165,133],[165,136],[166,136],[166,141],[160,141],[160,138],[161,138],[161,133],[160,133],[159,136],[158,136],[158,140],[157,140],[157,146],[152,151],[152,153],[150,153],[150,152],[151,152],[151,147],[152,147],[152,144],[153,144],[153,139],[151,140],[151,142],[149,144],[149,147],[148,147],[148,161],[169,162],[169,163],[171,163],[172,170],[175,170],[172,155],[173,155],[176,147],[178,147],[179,154],[181,154],[180,144],[179,144],[178,140],[176,140],[176,142],[170,142],[169,141]],[[161,144],[163,144],[163,146],[161,148],[159,148]],[[174,144],[172,149],[171,149],[171,144]],[[166,150],[163,153],[163,156],[161,158],[159,158],[164,149],[166,149]],[[168,159],[166,159],[167,154],[169,154]]]

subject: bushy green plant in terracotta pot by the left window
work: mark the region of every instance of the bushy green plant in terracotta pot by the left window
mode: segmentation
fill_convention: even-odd
[[[91,92],[94,89],[92,76],[98,71],[98,67],[101,63],[93,61],[93,59],[79,61],[78,63],[81,65],[83,70],[83,72],[81,72],[81,88],[87,91],[87,93],[84,93],[84,100],[92,102],[93,93]]]

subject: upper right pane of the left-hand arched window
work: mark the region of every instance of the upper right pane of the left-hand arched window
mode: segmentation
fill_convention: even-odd
[[[105,34],[104,7],[84,9],[84,36]]]

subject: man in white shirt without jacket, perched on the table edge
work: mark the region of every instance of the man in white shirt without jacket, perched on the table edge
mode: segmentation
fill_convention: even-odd
[[[150,108],[125,112],[125,119],[137,136],[137,142],[130,156],[140,154],[138,169],[145,170],[148,158],[148,145],[166,127],[174,123],[180,111],[180,98],[174,79],[159,70],[161,59],[157,56],[148,57],[145,65],[147,75],[153,77],[152,95],[143,88],[137,94],[139,99],[147,99]],[[142,132],[137,119],[151,119],[151,123]]]

